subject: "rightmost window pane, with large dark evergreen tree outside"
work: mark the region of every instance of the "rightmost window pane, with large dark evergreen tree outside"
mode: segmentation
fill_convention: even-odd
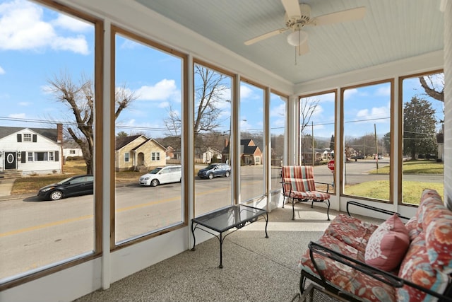
[[[428,87],[427,90],[422,87]],[[427,94],[429,88],[437,93]],[[426,187],[444,192],[444,74],[403,80],[403,196],[419,204]]]

